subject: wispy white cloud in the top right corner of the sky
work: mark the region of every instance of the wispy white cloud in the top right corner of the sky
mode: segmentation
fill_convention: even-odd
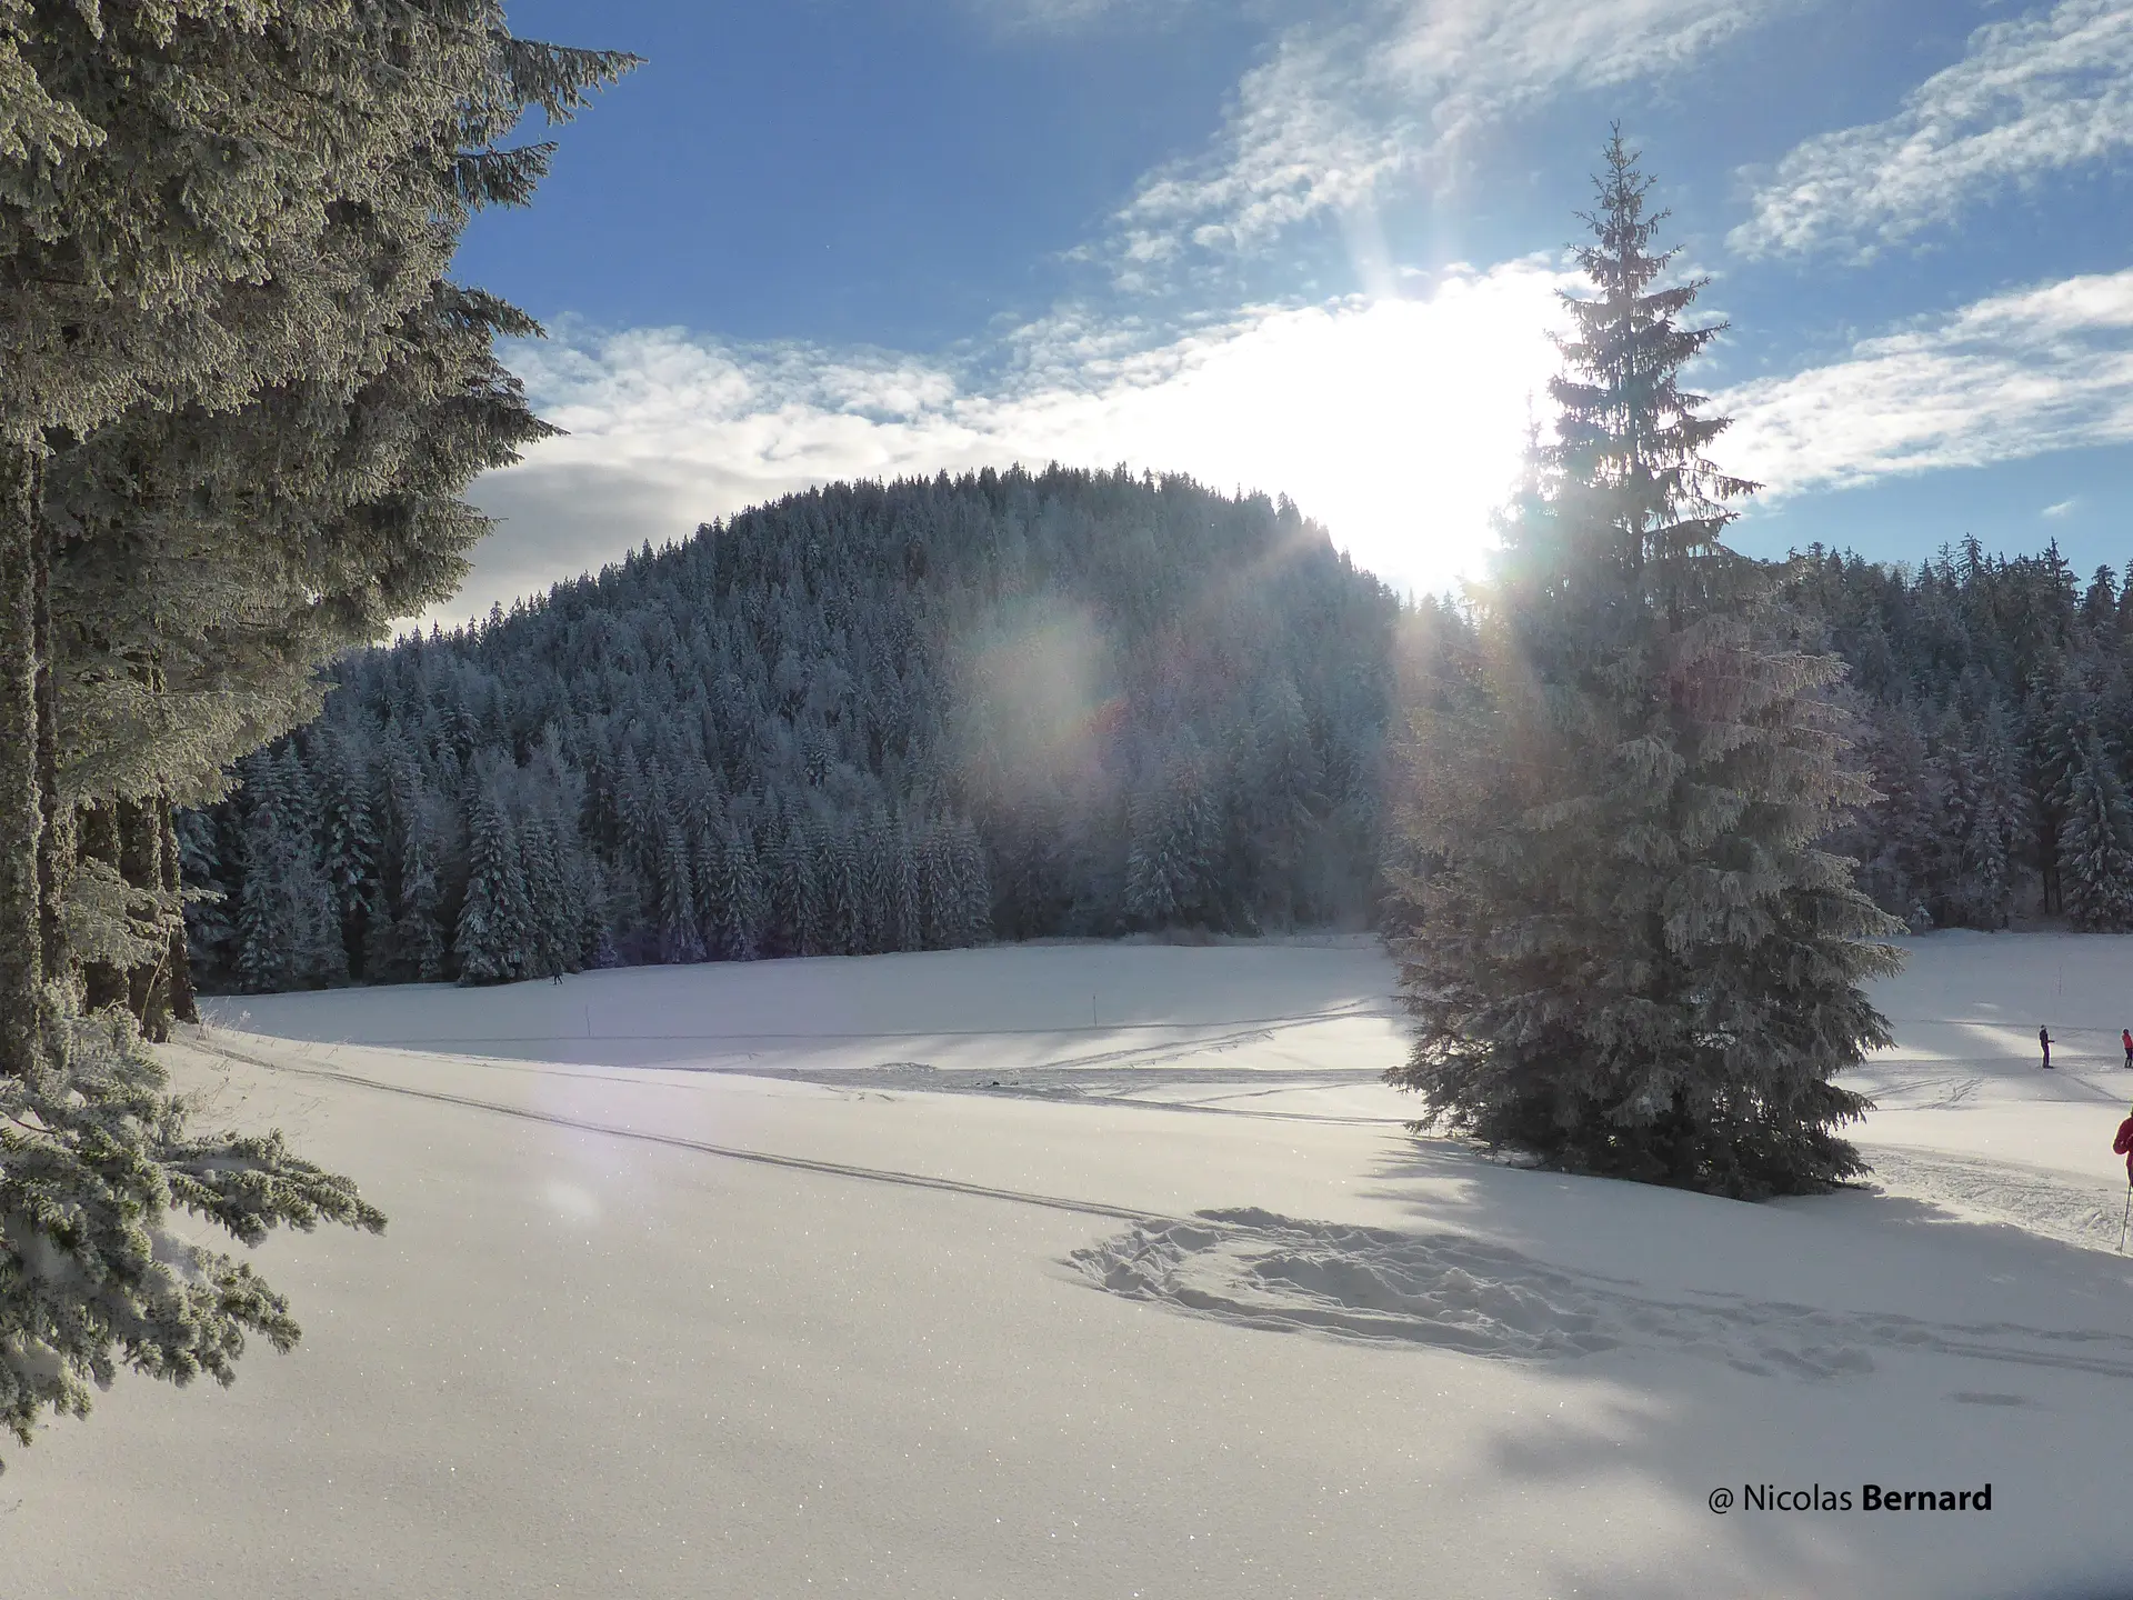
[[[1871,258],[1964,205],[2133,147],[2133,0],[2063,0],[1971,34],[1888,122],[1819,134],[1777,164],[1728,243],[1749,256]]]

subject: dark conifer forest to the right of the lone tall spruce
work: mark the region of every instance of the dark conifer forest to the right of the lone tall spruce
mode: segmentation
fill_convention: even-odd
[[[1851,666],[1881,800],[1834,847],[1913,928],[2133,928],[2133,563],[2082,582],[2052,544],[1918,567],[1824,548],[1798,599]]]

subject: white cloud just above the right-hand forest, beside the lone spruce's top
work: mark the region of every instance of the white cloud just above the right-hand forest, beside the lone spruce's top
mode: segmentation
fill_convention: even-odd
[[[2133,439],[2133,269],[1994,294],[1717,397],[1770,495]]]

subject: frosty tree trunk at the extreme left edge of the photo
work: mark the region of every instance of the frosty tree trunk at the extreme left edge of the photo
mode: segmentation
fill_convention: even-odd
[[[30,448],[0,442],[0,1073],[15,1077],[41,1065],[47,1026],[36,478]]]

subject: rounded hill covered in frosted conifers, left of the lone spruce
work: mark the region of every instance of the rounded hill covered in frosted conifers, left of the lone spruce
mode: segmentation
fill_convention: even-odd
[[[793,495],[343,659],[181,819],[196,979],[1359,922],[1397,614],[1186,478]]]

